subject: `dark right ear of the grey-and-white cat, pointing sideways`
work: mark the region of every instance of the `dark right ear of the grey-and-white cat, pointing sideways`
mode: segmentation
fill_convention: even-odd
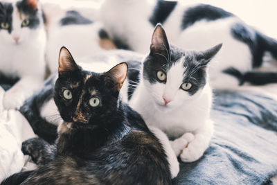
[[[222,48],[222,43],[213,46],[211,49],[207,49],[206,51],[202,51],[197,54],[197,61],[201,62],[204,67],[206,64],[211,61],[211,59],[220,51]]]

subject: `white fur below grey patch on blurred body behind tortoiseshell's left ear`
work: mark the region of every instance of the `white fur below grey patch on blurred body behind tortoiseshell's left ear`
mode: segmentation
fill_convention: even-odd
[[[59,20],[53,21],[48,28],[46,60],[51,73],[57,71],[58,56],[62,46],[66,46],[71,51],[76,61],[84,56],[104,51],[99,45],[98,31],[102,28],[99,22],[60,26]]]

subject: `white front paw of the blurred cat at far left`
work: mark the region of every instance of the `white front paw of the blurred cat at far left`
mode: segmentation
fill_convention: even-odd
[[[12,91],[6,91],[3,97],[3,107],[5,109],[19,109],[24,103],[24,97],[22,94],[18,94]]]

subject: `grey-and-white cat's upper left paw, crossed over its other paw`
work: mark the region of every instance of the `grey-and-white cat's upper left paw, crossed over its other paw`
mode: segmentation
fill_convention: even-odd
[[[175,139],[174,141],[170,141],[170,144],[172,146],[172,149],[175,152],[175,155],[179,156],[182,150],[184,150],[184,148],[188,146],[188,143],[190,143],[190,141],[193,141],[193,139],[195,139],[195,136],[188,132],[183,136],[179,137],[178,139]]]

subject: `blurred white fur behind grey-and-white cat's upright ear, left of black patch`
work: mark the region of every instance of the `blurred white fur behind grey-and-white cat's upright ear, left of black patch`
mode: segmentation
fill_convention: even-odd
[[[132,50],[144,54],[149,51],[153,29],[145,19],[150,16],[153,6],[147,0],[106,0],[99,19],[111,37],[124,40]]]

